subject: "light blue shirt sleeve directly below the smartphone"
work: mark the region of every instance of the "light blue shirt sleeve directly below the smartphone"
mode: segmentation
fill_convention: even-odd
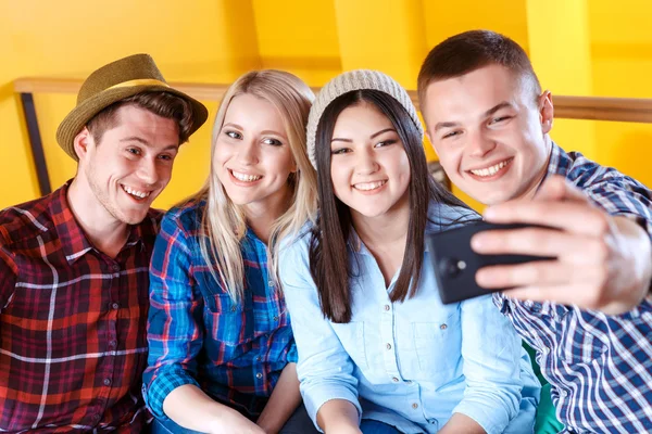
[[[490,295],[462,303],[462,357],[467,385],[453,412],[502,433],[521,404],[521,339]]]

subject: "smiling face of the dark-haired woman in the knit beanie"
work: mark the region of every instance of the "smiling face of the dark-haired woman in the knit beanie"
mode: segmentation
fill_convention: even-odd
[[[362,102],[337,118],[330,143],[335,195],[353,218],[375,218],[409,206],[410,163],[391,122]]]

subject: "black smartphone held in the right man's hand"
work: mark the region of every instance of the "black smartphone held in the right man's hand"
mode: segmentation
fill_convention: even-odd
[[[478,286],[475,281],[475,275],[481,267],[554,259],[554,257],[550,256],[480,255],[471,248],[471,238],[478,232],[492,229],[519,229],[526,227],[532,227],[532,225],[497,225],[478,221],[448,231],[426,234],[426,243],[435,268],[435,277],[439,286],[441,303],[446,305],[492,292],[509,290],[509,288],[486,289]]]

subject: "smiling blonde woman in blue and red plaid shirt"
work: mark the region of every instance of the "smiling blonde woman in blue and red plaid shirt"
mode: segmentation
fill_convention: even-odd
[[[277,240],[316,208],[304,132],[313,98],[288,73],[240,77],[215,118],[204,188],[163,218],[143,386],[154,434],[314,430],[275,278]]]

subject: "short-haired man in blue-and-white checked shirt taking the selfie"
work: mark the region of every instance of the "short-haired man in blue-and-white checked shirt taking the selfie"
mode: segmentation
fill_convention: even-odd
[[[435,47],[418,77],[427,135],[447,175],[489,205],[480,254],[556,257],[476,275],[537,352],[567,432],[652,431],[652,192],[566,153],[551,93],[525,51],[486,30]]]

